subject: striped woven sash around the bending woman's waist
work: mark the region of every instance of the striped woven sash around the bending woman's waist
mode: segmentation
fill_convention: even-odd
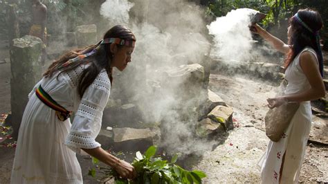
[[[59,120],[64,121],[67,118],[71,116],[71,111],[67,111],[64,107],[62,107],[60,104],[58,104],[53,98],[51,98],[44,89],[42,89],[42,86],[39,85],[37,90],[35,90],[35,94],[37,95],[37,98],[44,102],[46,106],[50,107],[51,109],[56,111],[56,116]]]

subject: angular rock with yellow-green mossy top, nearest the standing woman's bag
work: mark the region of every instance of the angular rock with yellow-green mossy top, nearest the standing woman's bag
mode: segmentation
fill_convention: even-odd
[[[233,124],[233,108],[218,105],[208,113],[208,118],[221,123],[225,129],[228,129]]]

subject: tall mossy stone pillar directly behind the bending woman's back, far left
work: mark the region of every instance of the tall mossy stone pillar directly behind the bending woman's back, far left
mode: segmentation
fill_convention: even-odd
[[[12,42],[12,49],[10,50],[10,104],[15,137],[28,102],[28,93],[42,78],[40,62],[42,41],[38,37],[26,35],[13,39]]]

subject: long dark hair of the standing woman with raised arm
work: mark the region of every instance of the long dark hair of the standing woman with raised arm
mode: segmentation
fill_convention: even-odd
[[[303,9],[298,10],[298,17],[312,30],[308,30],[303,26],[295,16],[289,19],[291,26],[291,38],[289,39],[289,45],[291,49],[287,53],[287,57],[284,63],[285,68],[293,62],[293,59],[302,51],[305,47],[309,46],[316,51],[319,60],[320,73],[323,75],[323,62],[322,53],[320,51],[320,44],[317,42],[318,31],[322,28],[323,23],[319,12]]]

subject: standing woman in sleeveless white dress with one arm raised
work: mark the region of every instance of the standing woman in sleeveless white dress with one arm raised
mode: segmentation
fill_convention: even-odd
[[[311,129],[310,100],[325,96],[319,42],[319,30],[322,28],[320,14],[309,9],[298,10],[289,22],[288,45],[258,25],[252,28],[274,48],[286,54],[284,66],[288,85],[285,95],[269,98],[268,107],[272,109],[284,103],[300,102],[282,138],[278,142],[268,143],[266,154],[260,161],[262,183],[298,183]]]

